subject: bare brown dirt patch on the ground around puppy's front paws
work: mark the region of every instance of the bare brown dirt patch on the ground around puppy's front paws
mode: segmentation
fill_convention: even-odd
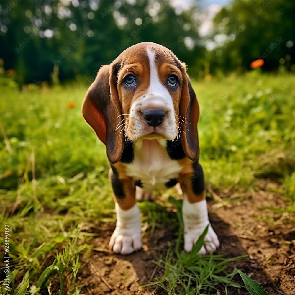
[[[229,267],[237,267],[258,281],[269,294],[295,295],[295,227],[294,215],[275,213],[266,207],[284,208],[286,202],[276,194],[266,193],[271,184],[260,181],[253,193],[217,192],[230,203],[209,203],[209,219],[219,236],[217,253],[223,257],[249,255]],[[157,229],[144,238],[143,249],[131,255],[115,255],[107,249],[114,224],[91,241],[96,245],[91,258],[78,274],[81,294],[167,294],[158,286],[140,288],[161,277],[152,260],[165,253],[167,242],[176,238],[176,230]],[[238,283],[242,280],[236,276]],[[230,288],[229,295],[248,295],[245,289]]]

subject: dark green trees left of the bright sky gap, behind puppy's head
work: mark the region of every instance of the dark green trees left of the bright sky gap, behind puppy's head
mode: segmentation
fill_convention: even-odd
[[[190,65],[202,66],[205,49],[197,45],[193,10],[178,15],[169,2],[22,0],[6,11],[12,1],[3,0],[0,20],[7,32],[0,30],[0,58],[5,69],[16,70],[20,83],[37,79],[56,84],[54,65],[60,68],[62,81],[93,76],[125,48],[146,41],[171,48]],[[150,9],[156,9],[154,17]],[[136,19],[142,24],[136,24]],[[195,43],[192,50],[187,50],[184,37]],[[196,56],[200,58],[196,60]]]

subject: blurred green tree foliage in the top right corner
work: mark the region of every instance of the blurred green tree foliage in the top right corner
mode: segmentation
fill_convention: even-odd
[[[263,69],[267,71],[277,69],[281,58],[281,64],[290,69],[294,46],[287,47],[286,43],[294,40],[294,5],[288,0],[235,0],[223,7],[214,19],[211,38],[208,36],[209,40],[216,40],[219,34],[226,36],[226,41],[208,55],[212,73],[224,75],[249,69],[250,62],[257,58],[264,60]]]

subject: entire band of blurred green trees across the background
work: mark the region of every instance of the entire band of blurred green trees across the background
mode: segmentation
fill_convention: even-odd
[[[294,5],[234,0],[216,14],[208,35],[200,37],[209,6],[203,10],[197,2],[181,11],[169,0],[3,0],[0,57],[6,70],[15,69],[9,73],[19,83],[51,81],[54,65],[61,81],[89,76],[124,48],[144,41],[170,48],[194,78],[209,71],[245,71],[258,57],[266,70],[279,62],[290,69]]]

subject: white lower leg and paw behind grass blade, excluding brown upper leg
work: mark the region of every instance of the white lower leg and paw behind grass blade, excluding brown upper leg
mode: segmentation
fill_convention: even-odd
[[[204,229],[210,224],[207,201],[203,200],[197,203],[189,203],[186,194],[183,194],[182,214],[184,223],[184,250],[186,250],[186,252],[191,252],[194,244],[204,232]],[[214,252],[220,245],[211,224],[209,225],[208,233],[204,241],[206,242],[199,251],[202,255]]]

